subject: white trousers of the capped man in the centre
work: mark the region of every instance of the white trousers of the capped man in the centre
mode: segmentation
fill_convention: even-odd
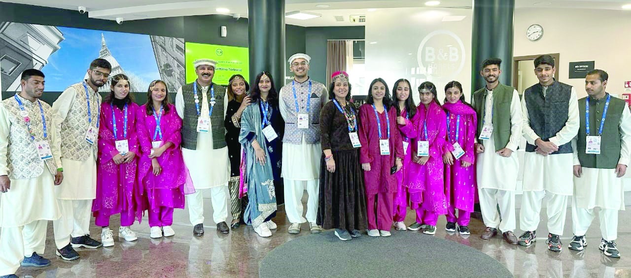
[[[290,180],[284,179],[285,184],[285,214],[291,223],[315,223],[317,207],[320,197],[320,180]],[[305,189],[309,195],[307,199],[307,219],[302,217],[302,194]]]

